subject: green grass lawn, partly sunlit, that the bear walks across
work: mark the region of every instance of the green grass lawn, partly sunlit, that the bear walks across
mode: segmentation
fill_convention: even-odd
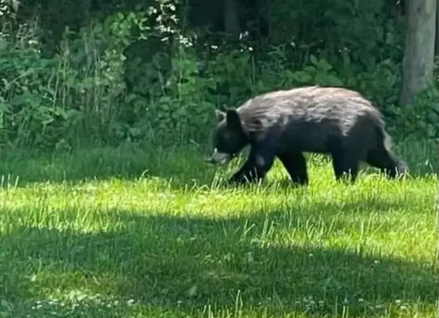
[[[123,146],[0,162],[0,317],[436,317],[435,145],[414,175],[262,185],[185,148]]]

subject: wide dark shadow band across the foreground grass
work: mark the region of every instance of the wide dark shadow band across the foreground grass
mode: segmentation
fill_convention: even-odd
[[[356,243],[323,246],[330,233],[353,229],[343,219],[351,208],[344,206],[341,217],[332,222],[330,217],[323,220],[332,225],[326,234],[320,230],[321,236],[316,234],[321,211],[338,206],[313,206],[289,216],[285,211],[261,211],[216,220],[154,211],[101,211],[94,216],[63,211],[40,220],[45,227],[11,225],[14,229],[0,237],[3,296],[19,302],[47,291],[86,288],[187,313],[208,304],[234,308],[238,294],[242,310],[266,307],[273,314],[295,310],[334,314],[337,298],[351,303],[353,316],[383,314],[365,305],[369,301],[387,306],[402,299],[433,308],[438,294],[433,264],[382,257],[379,252],[371,255],[356,250]],[[392,206],[383,203],[382,208]],[[11,218],[19,220],[29,211],[2,213],[13,213]],[[307,215],[307,228],[297,226],[299,215]],[[49,228],[52,218],[67,225],[87,217],[90,224],[107,230]],[[282,228],[303,232],[305,241],[276,243]],[[34,280],[29,279],[32,275]],[[303,301],[309,296],[315,303]]]

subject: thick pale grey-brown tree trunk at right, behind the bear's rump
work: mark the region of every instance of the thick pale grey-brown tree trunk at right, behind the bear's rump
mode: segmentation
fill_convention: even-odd
[[[433,75],[438,0],[408,1],[406,44],[403,58],[403,85],[400,104],[413,101]]]

